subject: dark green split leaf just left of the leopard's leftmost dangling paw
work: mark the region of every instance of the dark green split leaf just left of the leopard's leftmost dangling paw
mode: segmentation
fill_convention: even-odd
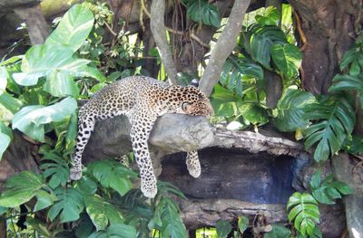
[[[43,176],[50,178],[48,185],[52,188],[65,186],[69,179],[67,162],[63,157],[55,153],[44,153],[40,168],[44,170]]]

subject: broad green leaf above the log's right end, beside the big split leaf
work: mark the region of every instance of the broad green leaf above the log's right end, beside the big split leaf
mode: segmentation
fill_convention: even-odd
[[[303,119],[306,105],[316,102],[315,97],[308,91],[288,89],[280,98],[278,116],[273,120],[280,131],[295,131],[309,125],[308,119]]]

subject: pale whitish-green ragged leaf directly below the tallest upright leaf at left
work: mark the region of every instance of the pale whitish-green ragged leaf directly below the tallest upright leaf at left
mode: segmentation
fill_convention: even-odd
[[[61,43],[34,45],[25,53],[22,71],[14,73],[16,83],[24,86],[35,85],[41,77],[49,77],[52,72],[63,71],[68,75],[82,76],[79,71],[90,61],[73,57],[73,49]]]

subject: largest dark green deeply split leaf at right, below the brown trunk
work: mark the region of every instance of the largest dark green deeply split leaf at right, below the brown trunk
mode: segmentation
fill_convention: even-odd
[[[354,109],[342,97],[325,97],[306,106],[304,119],[318,120],[305,131],[305,147],[318,143],[314,159],[325,161],[340,149],[355,124]]]

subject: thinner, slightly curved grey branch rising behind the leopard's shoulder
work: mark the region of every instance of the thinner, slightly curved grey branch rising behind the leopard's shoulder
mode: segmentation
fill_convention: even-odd
[[[151,29],[152,35],[155,39],[155,43],[158,46],[162,63],[165,67],[165,71],[168,74],[169,82],[172,84],[178,84],[177,71],[174,61],[172,59],[172,52],[169,49],[168,41],[166,40],[166,29],[164,24],[164,0],[153,0],[151,9]]]

